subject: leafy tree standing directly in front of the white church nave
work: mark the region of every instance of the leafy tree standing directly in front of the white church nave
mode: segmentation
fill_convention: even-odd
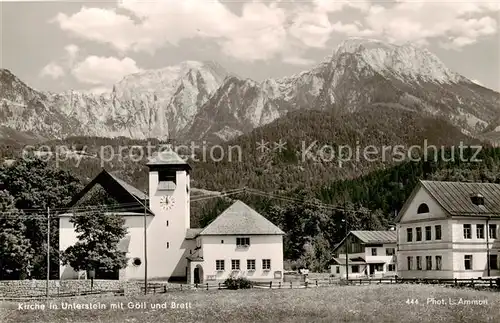
[[[127,266],[126,252],[119,250],[119,243],[127,234],[125,219],[104,209],[75,213],[78,242],[61,252],[61,261],[74,270],[114,272]]]

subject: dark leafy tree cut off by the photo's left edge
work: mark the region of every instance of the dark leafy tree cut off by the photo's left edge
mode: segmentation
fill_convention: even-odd
[[[23,279],[33,257],[22,213],[9,192],[0,191],[0,279]]]

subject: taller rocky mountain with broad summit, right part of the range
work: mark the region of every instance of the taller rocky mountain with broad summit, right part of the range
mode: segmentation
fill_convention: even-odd
[[[429,51],[351,38],[331,58],[289,78],[262,83],[226,79],[201,108],[191,135],[216,140],[298,109],[343,114],[373,103],[443,117],[472,135],[492,127],[500,116],[499,93],[450,71]]]

